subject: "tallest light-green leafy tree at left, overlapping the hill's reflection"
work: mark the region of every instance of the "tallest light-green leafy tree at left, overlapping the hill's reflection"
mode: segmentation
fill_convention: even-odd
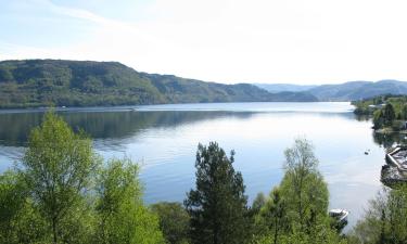
[[[79,219],[86,216],[80,213],[85,209],[84,193],[99,166],[91,141],[50,112],[31,131],[22,164],[30,197],[50,226],[52,242],[71,240],[72,230],[84,230],[78,228],[82,223]]]

